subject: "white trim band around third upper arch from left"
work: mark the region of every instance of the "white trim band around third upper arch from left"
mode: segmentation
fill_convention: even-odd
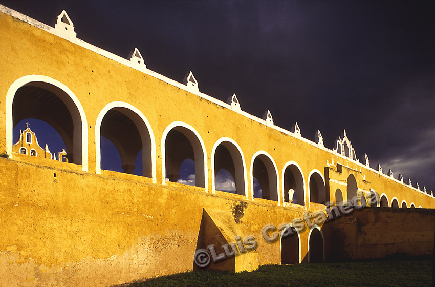
[[[202,153],[204,156],[204,188],[205,191],[208,192],[208,172],[207,172],[207,151],[205,149],[204,141],[202,140],[202,137],[200,134],[195,130],[192,126],[189,124],[186,124],[182,121],[174,121],[169,126],[166,127],[166,129],[163,131],[162,134],[162,142],[161,142],[161,148],[162,148],[162,185],[166,185],[166,154],[165,154],[165,141],[168,133],[176,127],[183,127],[188,130],[190,130],[199,140]],[[196,169],[196,168],[195,168]]]

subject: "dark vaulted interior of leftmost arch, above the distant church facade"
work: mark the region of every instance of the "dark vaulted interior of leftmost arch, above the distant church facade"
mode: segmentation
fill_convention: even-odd
[[[56,87],[51,88],[59,93],[63,92]],[[74,156],[74,121],[66,104],[58,95],[30,85],[19,88],[12,103],[13,128],[26,118],[42,120],[52,126],[62,137],[68,161],[81,165],[81,156]]]

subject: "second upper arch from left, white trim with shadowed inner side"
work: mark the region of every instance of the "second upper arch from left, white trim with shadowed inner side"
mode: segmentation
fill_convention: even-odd
[[[100,113],[97,116],[97,120],[95,122],[95,171],[96,173],[101,173],[101,124],[103,122],[104,116],[107,115],[109,111],[117,111],[118,113],[122,113],[127,116],[130,120],[133,121],[134,125],[138,129],[140,139],[142,141],[142,162],[143,162],[143,176],[151,177],[153,179],[153,183],[157,182],[156,178],[156,140],[154,138],[153,129],[151,129],[151,125],[148,120],[144,116],[144,114],[137,109],[136,107],[124,103],[122,101],[113,101],[112,103],[108,103],[101,109]],[[129,158],[127,151],[123,147],[123,144],[120,142],[120,139],[110,133],[105,134],[106,138],[111,140],[113,144],[118,149],[122,165],[131,164],[133,161],[133,165],[135,164],[136,156],[134,158]],[[108,137],[107,137],[108,136]],[[122,139],[121,139],[122,140]],[[125,146],[125,144],[124,144]],[[137,153],[136,153],[137,154]],[[128,159],[127,159],[128,158]]]

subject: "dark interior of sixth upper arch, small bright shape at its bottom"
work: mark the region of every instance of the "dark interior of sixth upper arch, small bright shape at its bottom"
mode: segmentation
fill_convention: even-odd
[[[292,203],[305,205],[305,198],[303,196],[303,179],[299,170],[290,165],[286,168],[284,172],[284,202],[289,202],[289,190],[294,190],[292,196]]]

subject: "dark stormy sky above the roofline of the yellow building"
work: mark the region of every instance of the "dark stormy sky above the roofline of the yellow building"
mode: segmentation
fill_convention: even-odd
[[[395,177],[435,190],[434,2],[16,1],[0,3],[52,24],[65,9],[77,37],[332,149],[346,129]]]

